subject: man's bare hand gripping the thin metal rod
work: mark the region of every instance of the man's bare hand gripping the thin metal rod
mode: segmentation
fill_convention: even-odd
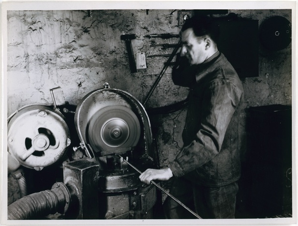
[[[149,185],[152,180],[167,181],[172,176],[173,173],[170,168],[160,170],[147,169],[139,176],[139,179]]]

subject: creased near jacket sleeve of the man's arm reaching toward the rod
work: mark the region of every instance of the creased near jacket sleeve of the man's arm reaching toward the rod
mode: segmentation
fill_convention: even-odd
[[[195,139],[182,148],[176,159],[169,164],[175,176],[180,177],[195,170],[220,152],[241,95],[242,92],[237,87],[220,81],[207,87],[203,95],[201,124]]]

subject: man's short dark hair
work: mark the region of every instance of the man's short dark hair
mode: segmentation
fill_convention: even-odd
[[[181,31],[185,31],[188,28],[193,28],[195,36],[204,36],[209,35],[210,38],[217,43],[219,36],[219,25],[216,23],[215,19],[212,19],[209,16],[193,16],[190,19],[187,19]]]

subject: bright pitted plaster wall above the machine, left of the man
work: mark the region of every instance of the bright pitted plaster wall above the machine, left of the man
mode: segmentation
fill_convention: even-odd
[[[104,82],[142,101],[166,58],[148,58],[147,69],[131,74],[120,36],[136,34],[134,53],[171,53],[150,47],[164,40],[143,37],[178,33],[177,13],[171,11],[149,10],[147,15],[146,10],[91,10],[91,17],[86,11],[9,11],[8,115],[26,104],[51,104],[49,89],[57,86],[70,104]],[[169,68],[148,105],[171,103],[171,94],[179,96],[179,89],[171,83]]]

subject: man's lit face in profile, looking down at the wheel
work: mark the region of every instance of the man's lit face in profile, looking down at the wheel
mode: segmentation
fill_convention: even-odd
[[[207,59],[206,43],[203,38],[195,36],[193,28],[182,32],[181,41],[181,56],[186,56],[191,65],[201,64]]]

